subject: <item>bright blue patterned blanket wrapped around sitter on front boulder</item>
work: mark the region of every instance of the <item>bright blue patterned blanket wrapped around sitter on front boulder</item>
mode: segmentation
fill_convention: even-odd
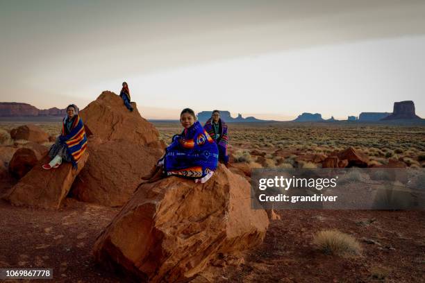
[[[174,135],[165,152],[164,169],[167,175],[203,178],[217,169],[217,162],[217,144],[196,121],[181,135]]]

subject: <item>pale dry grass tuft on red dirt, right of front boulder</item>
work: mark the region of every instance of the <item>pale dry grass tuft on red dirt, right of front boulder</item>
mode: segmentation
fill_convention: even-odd
[[[359,255],[360,243],[349,234],[338,230],[322,230],[317,232],[313,238],[319,250],[331,255]]]

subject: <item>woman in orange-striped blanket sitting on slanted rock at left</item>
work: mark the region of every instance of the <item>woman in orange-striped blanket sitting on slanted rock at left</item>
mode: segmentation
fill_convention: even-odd
[[[67,115],[62,122],[62,132],[49,150],[51,162],[43,164],[43,169],[58,168],[63,161],[71,162],[74,168],[87,148],[87,137],[83,120],[78,115],[78,108],[71,104],[67,107]]]

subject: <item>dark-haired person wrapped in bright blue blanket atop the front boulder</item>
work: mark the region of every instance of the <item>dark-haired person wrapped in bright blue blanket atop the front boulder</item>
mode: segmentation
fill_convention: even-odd
[[[190,108],[183,109],[180,122],[184,127],[183,132],[174,135],[165,155],[143,180],[154,182],[164,176],[176,175],[204,183],[213,176],[219,156],[217,144]]]

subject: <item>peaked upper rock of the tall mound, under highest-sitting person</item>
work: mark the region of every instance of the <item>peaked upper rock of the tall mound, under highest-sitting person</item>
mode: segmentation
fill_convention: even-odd
[[[117,94],[102,92],[95,101],[81,110],[80,115],[88,135],[94,135],[103,141],[125,139],[140,145],[158,141],[158,130],[143,119],[134,104],[133,106],[134,111],[130,112]]]

